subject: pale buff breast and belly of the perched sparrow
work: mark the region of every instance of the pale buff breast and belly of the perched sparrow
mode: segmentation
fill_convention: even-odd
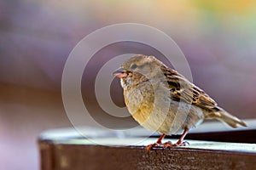
[[[179,133],[183,127],[201,122],[201,109],[173,101],[164,86],[144,82],[124,89],[125,105],[131,116],[143,127],[160,133]]]

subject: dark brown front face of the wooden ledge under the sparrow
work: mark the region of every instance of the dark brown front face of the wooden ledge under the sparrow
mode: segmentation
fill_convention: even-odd
[[[256,155],[222,150],[40,143],[42,169],[256,169]]]

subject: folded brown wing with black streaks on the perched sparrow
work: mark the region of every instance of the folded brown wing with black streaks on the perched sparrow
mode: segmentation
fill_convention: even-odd
[[[217,103],[201,88],[196,87],[185,77],[170,68],[162,68],[172,99],[196,105],[208,111],[218,111]]]

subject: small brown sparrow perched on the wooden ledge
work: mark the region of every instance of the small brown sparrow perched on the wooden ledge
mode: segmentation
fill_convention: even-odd
[[[224,111],[201,88],[154,56],[137,54],[127,59],[113,76],[120,78],[125,105],[131,116],[148,130],[161,133],[154,146],[184,146],[189,129],[205,119],[217,119],[230,127],[247,127],[236,116]],[[166,135],[182,134],[177,143],[162,143]]]

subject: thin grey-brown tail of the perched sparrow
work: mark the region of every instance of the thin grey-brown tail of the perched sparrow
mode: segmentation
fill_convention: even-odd
[[[230,127],[237,127],[237,125],[241,125],[243,127],[247,127],[247,124],[243,121],[241,121],[236,116],[230,115],[227,111],[224,111],[223,109],[219,108],[218,116],[215,117],[219,121],[226,122]]]

